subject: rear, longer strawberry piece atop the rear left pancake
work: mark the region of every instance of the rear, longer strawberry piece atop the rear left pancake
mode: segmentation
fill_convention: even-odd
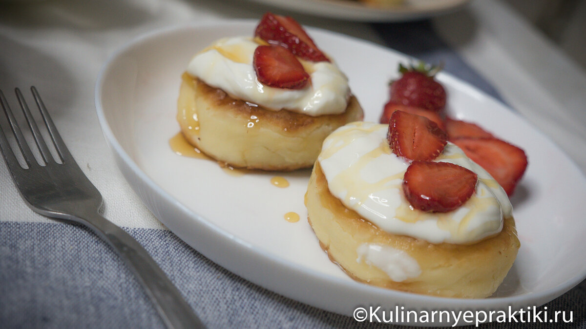
[[[315,45],[299,23],[289,17],[267,12],[258,22],[254,35],[271,44],[288,48],[301,59],[309,61],[330,61]]]

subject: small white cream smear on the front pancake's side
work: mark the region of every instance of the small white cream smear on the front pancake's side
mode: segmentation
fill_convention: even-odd
[[[393,280],[403,282],[410,277],[418,277],[421,268],[415,259],[402,250],[377,244],[362,244],[356,249],[358,259],[371,266],[376,266]]]

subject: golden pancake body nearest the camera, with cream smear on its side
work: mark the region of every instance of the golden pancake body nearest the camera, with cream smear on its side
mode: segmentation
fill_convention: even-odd
[[[323,250],[353,279],[405,292],[442,297],[488,297],[502,283],[515,261],[519,239],[513,218],[505,218],[495,237],[471,245],[431,244],[421,239],[382,231],[346,208],[328,189],[315,163],[305,194],[308,221]],[[383,270],[358,262],[358,246],[377,244],[406,252],[421,274],[394,282]]]

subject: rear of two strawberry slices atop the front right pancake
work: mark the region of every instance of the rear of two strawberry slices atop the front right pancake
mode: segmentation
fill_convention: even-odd
[[[432,160],[444,150],[448,136],[425,116],[394,111],[389,120],[387,139],[398,156],[409,160]]]

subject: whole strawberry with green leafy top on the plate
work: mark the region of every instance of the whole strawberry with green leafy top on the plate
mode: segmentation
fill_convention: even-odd
[[[441,112],[445,108],[446,93],[434,78],[440,70],[440,67],[428,68],[424,63],[417,67],[399,64],[399,72],[403,75],[391,83],[390,101]]]

